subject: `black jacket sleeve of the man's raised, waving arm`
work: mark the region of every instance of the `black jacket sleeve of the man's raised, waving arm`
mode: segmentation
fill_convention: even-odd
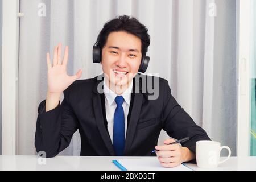
[[[44,151],[47,158],[56,156],[69,146],[77,127],[78,119],[68,102],[68,89],[55,109],[46,112],[46,100],[42,101],[36,121],[36,151]]]

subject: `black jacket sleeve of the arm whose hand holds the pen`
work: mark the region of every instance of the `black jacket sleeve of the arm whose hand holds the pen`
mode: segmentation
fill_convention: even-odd
[[[196,154],[196,142],[210,140],[205,130],[197,126],[188,113],[172,97],[168,81],[164,81],[163,109],[163,130],[175,139],[190,138],[187,142],[181,143],[183,147],[189,148],[189,150]]]

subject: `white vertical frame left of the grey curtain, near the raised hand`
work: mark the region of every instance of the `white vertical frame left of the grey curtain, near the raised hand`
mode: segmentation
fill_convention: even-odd
[[[16,91],[18,89],[18,0],[3,0],[2,154],[16,154]]]

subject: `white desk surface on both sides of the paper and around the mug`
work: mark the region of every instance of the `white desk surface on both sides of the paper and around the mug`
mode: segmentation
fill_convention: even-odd
[[[118,170],[114,159],[134,159],[146,157],[116,156],[56,156],[55,158],[38,158],[36,155],[0,155],[0,170]],[[147,157],[148,158],[148,157]],[[44,164],[45,162],[45,164]],[[198,168],[196,164],[185,164],[189,168]],[[256,170],[256,157],[231,157],[218,168],[211,170]]]

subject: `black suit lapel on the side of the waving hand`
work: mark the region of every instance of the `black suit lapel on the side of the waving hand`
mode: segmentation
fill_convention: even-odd
[[[106,130],[106,127],[104,125],[104,118],[103,118],[102,106],[101,106],[101,96],[100,96],[100,93],[98,93],[97,91],[97,87],[98,87],[98,84],[100,84],[100,82],[101,80],[97,81],[93,89],[93,92],[95,93],[95,96],[93,97],[93,110],[94,110],[97,127],[101,134],[101,138],[104,141],[106,148],[108,148],[110,155],[113,156],[114,148],[113,148],[111,139],[109,138],[108,131]]]

